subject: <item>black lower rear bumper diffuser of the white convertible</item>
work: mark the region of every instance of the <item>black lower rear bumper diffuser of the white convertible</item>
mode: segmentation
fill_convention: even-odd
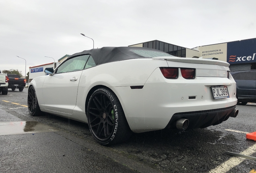
[[[205,128],[211,125],[218,125],[223,121],[229,119],[235,107],[236,106],[205,111],[175,113],[171,117],[171,120],[169,121],[166,128],[175,129],[176,121],[182,118],[189,120],[189,125],[187,129]]]

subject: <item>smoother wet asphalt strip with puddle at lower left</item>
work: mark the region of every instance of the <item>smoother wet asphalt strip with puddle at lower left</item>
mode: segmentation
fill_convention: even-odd
[[[78,138],[70,139],[66,134],[56,133],[58,130],[50,126],[37,121],[23,121],[2,109],[0,117],[2,173],[136,172],[80,145]]]

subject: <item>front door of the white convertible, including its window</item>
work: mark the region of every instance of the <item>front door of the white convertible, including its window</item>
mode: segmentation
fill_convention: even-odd
[[[78,84],[90,55],[70,58],[63,62],[43,82],[43,101],[47,110],[56,114],[72,114],[76,105]]]

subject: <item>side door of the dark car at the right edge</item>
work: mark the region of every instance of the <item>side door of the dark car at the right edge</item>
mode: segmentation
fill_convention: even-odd
[[[256,72],[239,72],[235,75],[238,99],[252,99],[256,95]]]

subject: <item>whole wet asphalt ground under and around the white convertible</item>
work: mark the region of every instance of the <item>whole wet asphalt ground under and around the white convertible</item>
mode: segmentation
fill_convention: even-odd
[[[255,103],[237,105],[237,118],[229,118],[220,125],[133,134],[125,143],[111,147],[96,143],[87,124],[50,114],[31,117],[24,107],[26,104],[26,89],[9,90],[6,96],[0,94],[0,172],[254,173],[256,170],[256,161],[237,161],[241,158],[225,153],[250,149],[250,156],[256,157],[256,141],[246,139],[246,133],[256,131]],[[26,129],[26,132],[8,130],[12,134],[4,134],[6,130],[1,128],[10,124],[20,125],[21,131]]]

